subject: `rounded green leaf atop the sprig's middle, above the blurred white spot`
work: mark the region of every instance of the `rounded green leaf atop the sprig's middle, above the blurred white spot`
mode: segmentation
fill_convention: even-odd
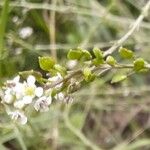
[[[82,57],[82,50],[69,50],[67,54],[67,58],[71,60],[79,60]]]

